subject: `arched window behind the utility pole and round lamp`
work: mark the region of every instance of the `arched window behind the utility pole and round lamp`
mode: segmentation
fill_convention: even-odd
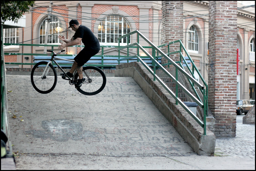
[[[42,22],[40,27],[40,44],[45,43],[45,34],[47,30],[47,18]],[[48,29],[48,42],[47,44],[57,44],[59,43],[58,35],[62,35],[62,24],[58,17],[51,16],[49,19],[49,29]]]

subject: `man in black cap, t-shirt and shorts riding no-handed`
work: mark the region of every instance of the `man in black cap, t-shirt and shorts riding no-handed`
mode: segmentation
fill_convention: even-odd
[[[65,47],[77,45],[81,43],[81,41],[83,42],[85,47],[74,58],[75,61],[70,71],[66,73],[69,77],[73,77],[73,73],[76,69],[79,76],[76,85],[81,86],[82,83],[86,80],[85,78],[83,78],[82,66],[92,56],[96,55],[100,51],[100,43],[88,27],[80,25],[79,22],[75,19],[72,19],[69,22],[68,28],[71,28],[73,31],[75,31],[75,34],[71,39],[65,39],[64,36],[58,35],[58,38],[63,41],[61,45],[59,45],[58,49],[62,50]],[[65,74],[62,73],[61,76],[62,75]]]

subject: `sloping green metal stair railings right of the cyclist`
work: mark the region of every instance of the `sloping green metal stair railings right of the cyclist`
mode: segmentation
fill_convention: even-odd
[[[129,36],[131,36],[132,34],[136,34],[136,35],[137,35],[137,42],[136,42],[136,43],[132,43],[132,44],[127,43],[126,46],[120,46],[120,40],[123,39],[123,38],[129,39]],[[149,53],[145,50],[145,48],[142,47],[142,46],[139,44],[139,38],[142,38],[144,41],[146,41],[146,42],[151,46],[151,48],[152,48],[152,50],[153,50],[153,51],[152,51],[152,55],[149,54]],[[127,48],[127,49],[129,49],[129,48],[131,48],[131,47],[136,47],[136,48],[137,48],[137,55],[129,56],[129,50],[127,50],[127,57],[125,57],[125,58],[120,58],[120,59],[118,59],[118,61],[127,60],[127,62],[128,62],[129,59],[137,58],[137,61],[138,61],[138,62],[141,62],[141,63],[145,66],[145,68],[154,76],[154,80],[156,79],[156,80],[168,91],[168,93],[170,93],[170,95],[172,95],[172,97],[176,100],[176,104],[179,103],[179,104],[197,121],[197,123],[198,123],[202,128],[204,128],[204,135],[206,135],[206,114],[207,114],[207,106],[208,106],[208,104],[207,104],[207,99],[208,99],[208,97],[207,97],[207,95],[206,95],[206,94],[207,94],[207,91],[206,91],[206,90],[207,90],[207,84],[206,84],[206,82],[204,81],[204,79],[201,77],[201,74],[199,73],[199,71],[198,71],[198,69],[196,68],[196,66],[195,66],[194,62],[192,61],[191,57],[189,56],[189,54],[188,54],[187,51],[185,50],[185,48],[184,48],[182,42],[181,42],[180,40],[178,40],[178,41],[175,41],[175,42],[170,42],[170,43],[168,43],[168,44],[164,44],[164,45],[159,46],[159,47],[163,47],[163,46],[168,46],[168,45],[170,45],[170,44],[177,43],[177,42],[180,43],[180,50],[179,50],[179,51],[168,52],[168,54],[165,54],[163,51],[161,51],[161,50],[159,49],[159,47],[155,46],[151,41],[149,41],[149,40],[148,40],[143,34],[141,34],[141,32],[138,31],[138,30],[135,30],[135,31],[133,31],[133,32],[130,32],[130,33],[128,33],[128,34],[125,34],[125,35],[119,37],[119,38],[118,38],[118,41],[119,41],[119,48],[118,48],[119,51],[122,50],[122,49],[125,49],[125,48]],[[127,41],[127,42],[129,42],[129,41]],[[185,58],[184,58],[184,56],[183,56],[183,54],[182,54],[182,48],[183,48],[183,50],[185,51],[186,55],[189,57],[189,59],[190,59],[190,61],[191,61],[191,63],[192,63],[193,68],[198,72],[198,75],[199,75],[200,78],[203,80],[204,86],[206,86],[206,89],[204,88],[203,85],[201,85],[201,84],[195,79],[195,76],[194,76],[194,74],[193,74],[193,71],[191,71],[190,67],[188,66],[188,63],[186,62],[186,60],[185,60]],[[158,68],[160,68],[169,78],[172,78],[172,80],[176,83],[176,94],[174,94],[174,93],[166,86],[166,84],[156,75],[156,73],[155,73],[155,67],[154,67],[154,69],[152,70],[152,69],[142,60],[142,58],[139,56],[139,49],[142,50],[149,58],[151,58],[151,60],[154,61],[154,64],[155,64]],[[162,56],[162,57],[164,57],[165,59],[167,59],[168,62],[169,62],[168,65],[173,65],[173,66],[176,68],[176,77],[172,76],[160,63],[158,63],[157,60],[155,60],[155,59],[157,59],[157,58],[159,57],[159,56],[155,56],[155,54],[156,54],[155,52],[157,52],[157,54],[160,54],[159,56]],[[171,58],[169,58],[169,56],[168,56],[168,55],[174,54],[174,53],[180,54],[180,61],[178,62],[178,63],[180,64],[180,66],[179,66],[176,62],[174,62]],[[119,52],[119,55],[120,55],[120,52]],[[190,74],[188,74],[188,73],[185,71],[184,67],[182,66],[182,62],[181,62],[182,59],[184,60],[186,66],[187,66],[187,68],[189,69],[189,71],[190,71],[190,73],[191,73],[192,76],[191,76]],[[194,70],[194,69],[193,69],[193,70]],[[195,91],[195,93],[196,93],[196,96],[194,96],[189,90],[187,90],[187,89],[178,81],[178,70],[188,78],[188,80],[189,80],[191,86],[193,87],[193,89],[194,89],[194,91]],[[199,88],[199,90],[202,92],[202,99],[201,99],[200,96],[197,94],[194,85],[196,85],[196,86]],[[196,102],[202,109],[204,109],[203,121],[201,121],[201,120],[200,120],[200,119],[199,119],[199,118],[198,118],[198,117],[197,117],[197,116],[196,116],[196,115],[178,98],[178,91],[177,91],[178,88],[177,88],[177,87],[180,87],[194,102]]]

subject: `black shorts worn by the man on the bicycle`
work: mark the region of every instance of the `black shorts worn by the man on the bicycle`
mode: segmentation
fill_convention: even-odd
[[[93,50],[91,48],[84,47],[74,58],[74,60],[77,62],[78,66],[83,66],[85,63],[88,62],[88,60],[96,55],[100,51],[100,48],[97,50]]]

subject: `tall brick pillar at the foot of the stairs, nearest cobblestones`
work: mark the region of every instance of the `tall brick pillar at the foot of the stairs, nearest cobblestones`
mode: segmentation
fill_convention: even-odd
[[[216,137],[236,136],[237,1],[209,1],[208,104]]]

